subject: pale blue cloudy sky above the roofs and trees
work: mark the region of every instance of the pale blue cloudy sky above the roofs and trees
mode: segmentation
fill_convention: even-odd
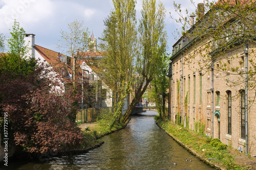
[[[157,4],[159,0],[156,0]],[[174,11],[174,1],[161,0],[166,9],[166,31],[168,35],[168,53],[172,52],[172,46],[177,41],[176,30],[181,28],[172,16],[178,18]],[[189,13],[196,7],[190,0],[177,0],[183,11]],[[194,3],[203,3],[203,0],[194,0]],[[141,17],[142,0],[137,0],[137,18]],[[55,52],[62,51],[56,44],[60,44],[60,31],[67,31],[68,23],[75,19],[82,20],[84,27],[89,29],[90,35],[94,34],[99,43],[104,30],[103,20],[108,17],[114,6],[112,0],[0,0],[0,34],[10,37],[10,29],[16,19],[20,27],[27,34],[35,34],[35,44],[48,48]],[[179,36],[178,36],[179,37]]]

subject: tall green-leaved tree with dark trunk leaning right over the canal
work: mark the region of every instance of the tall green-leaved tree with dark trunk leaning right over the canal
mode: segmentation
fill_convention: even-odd
[[[165,9],[161,2],[143,0],[142,18],[138,28],[140,55],[136,60],[136,72],[139,75],[138,88],[128,110],[123,116],[125,121],[136,107],[148,84],[161,70],[162,57],[166,51]]]

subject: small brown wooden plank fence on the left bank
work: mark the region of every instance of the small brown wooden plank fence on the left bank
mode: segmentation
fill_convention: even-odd
[[[98,109],[89,108],[78,111],[76,114],[76,121],[81,121],[82,123],[93,122],[97,118]]]

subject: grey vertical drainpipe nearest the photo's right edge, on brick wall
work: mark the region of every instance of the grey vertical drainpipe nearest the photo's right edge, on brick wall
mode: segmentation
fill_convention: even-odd
[[[245,155],[248,154],[248,44],[245,44]]]

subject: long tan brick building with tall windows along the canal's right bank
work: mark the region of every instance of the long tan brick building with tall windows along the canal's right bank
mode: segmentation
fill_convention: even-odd
[[[193,27],[189,31],[193,32]],[[169,117],[175,122],[180,116],[189,129],[198,131],[201,126],[207,136],[255,156],[255,89],[246,84],[246,70],[254,68],[248,61],[255,59],[256,44],[235,43],[222,53],[212,52],[215,59],[206,61],[206,51],[195,51],[210,39],[195,41],[183,36],[173,45],[168,73]]]

